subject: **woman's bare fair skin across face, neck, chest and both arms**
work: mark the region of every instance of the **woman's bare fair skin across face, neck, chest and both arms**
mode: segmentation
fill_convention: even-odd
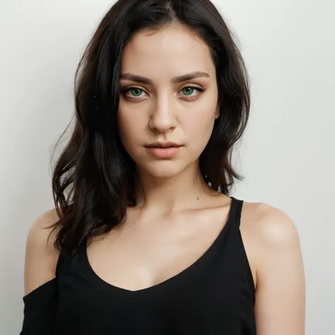
[[[195,72],[201,76],[173,81]],[[219,116],[216,69],[204,42],[180,25],[143,30],[124,50],[122,74],[119,131],[138,167],[139,205],[129,208],[122,226],[93,240],[88,258],[107,283],[140,290],[179,274],[204,254],[228,218],[230,199],[199,175],[199,155]],[[158,158],[146,148],[155,141],[182,147],[172,158]],[[42,228],[56,220],[55,211],[48,211],[30,230],[25,294],[54,278],[54,235],[46,246],[49,231]],[[292,221],[276,208],[245,202],[240,229],[256,287],[257,334],[304,334],[305,278]]]

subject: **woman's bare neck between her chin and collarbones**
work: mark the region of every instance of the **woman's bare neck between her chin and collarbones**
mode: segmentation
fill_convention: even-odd
[[[160,178],[139,171],[141,189],[138,206],[172,213],[183,208],[196,208],[211,192],[201,175],[199,163],[187,167],[179,175]]]

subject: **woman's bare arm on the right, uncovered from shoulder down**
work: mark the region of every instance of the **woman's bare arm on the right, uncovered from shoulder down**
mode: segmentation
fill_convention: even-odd
[[[305,274],[295,225],[267,206],[257,230],[257,335],[304,335]]]

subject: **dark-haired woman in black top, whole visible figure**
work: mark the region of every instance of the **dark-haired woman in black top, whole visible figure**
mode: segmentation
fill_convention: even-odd
[[[119,0],[78,66],[21,334],[304,334],[298,233],[229,196],[245,65],[209,0]]]

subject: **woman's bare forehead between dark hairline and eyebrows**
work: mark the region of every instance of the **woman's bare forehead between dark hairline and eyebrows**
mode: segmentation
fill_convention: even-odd
[[[192,71],[213,74],[215,66],[206,43],[183,25],[141,30],[122,54],[122,72],[154,78]]]

